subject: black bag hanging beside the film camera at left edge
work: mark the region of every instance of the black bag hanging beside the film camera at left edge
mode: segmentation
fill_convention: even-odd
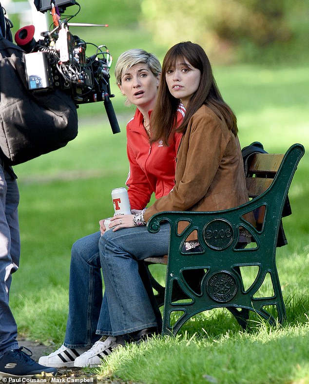
[[[0,37],[0,157],[8,165],[64,147],[78,130],[70,95],[61,90],[28,90],[24,54]]]

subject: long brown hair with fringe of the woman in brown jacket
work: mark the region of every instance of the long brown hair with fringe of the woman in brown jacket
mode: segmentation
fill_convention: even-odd
[[[223,100],[212,74],[210,61],[203,48],[191,41],[180,42],[169,49],[162,65],[162,75],[154,111],[151,115],[152,142],[163,140],[168,145],[169,137],[176,127],[179,99],[171,95],[165,75],[175,67],[177,58],[184,58],[201,73],[200,85],[191,97],[186,115],[177,132],[185,132],[190,118],[203,105],[207,105],[236,136],[237,120],[232,109]]]

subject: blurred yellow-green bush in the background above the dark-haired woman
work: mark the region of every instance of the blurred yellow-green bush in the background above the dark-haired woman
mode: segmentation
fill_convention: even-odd
[[[267,61],[270,56],[281,58],[281,49],[288,51],[302,34],[300,24],[302,20],[304,25],[308,23],[309,13],[304,3],[301,0],[142,0],[141,8],[147,27],[162,44],[170,46],[181,40],[193,40],[215,61],[263,61],[261,55],[266,55]],[[303,16],[306,8],[307,20]]]

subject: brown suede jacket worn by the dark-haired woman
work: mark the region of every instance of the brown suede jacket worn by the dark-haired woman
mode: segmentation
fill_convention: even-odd
[[[162,211],[220,211],[248,200],[238,137],[203,105],[179,146],[173,190],[147,208],[144,219]]]

